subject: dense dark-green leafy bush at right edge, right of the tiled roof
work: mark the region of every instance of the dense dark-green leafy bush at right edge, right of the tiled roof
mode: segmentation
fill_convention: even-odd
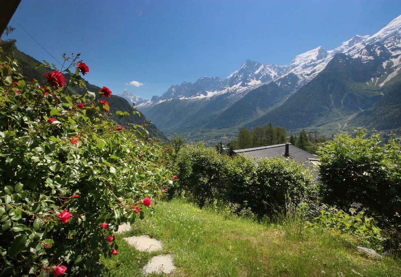
[[[401,153],[394,140],[381,146],[377,134],[364,139],[359,130],[354,138],[339,134],[320,150],[323,201],[348,209],[354,202],[369,213],[389,217],[401,210]]]

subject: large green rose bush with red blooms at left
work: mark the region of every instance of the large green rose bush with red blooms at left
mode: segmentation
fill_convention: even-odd
[[[143,219],[141,209],[172,183],[163,149],[139,126],[112,121],[99,101],[108,88],[64,93],[84,88],[79,73],[89,72],[78,56],[65,64],[39,65],[51,70],[39,84],[25,82],[16,60],[0,61],[1,276],[99,275],[100,256],[117,255],[113,232]]]

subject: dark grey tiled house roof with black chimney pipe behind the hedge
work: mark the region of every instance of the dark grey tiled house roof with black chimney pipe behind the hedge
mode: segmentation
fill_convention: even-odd
[[[284,159],[284,152],[286,150],[286,144],[277,144],[277,145],[270,145],[264,147],[255,147],[255,148],[248,148],[248,149],[239,149],[234,150],[234,153],[237,155],[242,155],[251,159],[255,163],[259,163],[260,160],[264,159],[274,159],[274,158],[282,158]],[[315,183],[320,183],[319,179],[319,171],[316,165],[312,163],[312,161],[318,161],[318,156],[310,154],[305,150],[302,150],[294,145],[289,145],[289,154],[291,161],[295,161],[296,163],[302,165],[304,168],[308,168],[313,176],[313,181]]]

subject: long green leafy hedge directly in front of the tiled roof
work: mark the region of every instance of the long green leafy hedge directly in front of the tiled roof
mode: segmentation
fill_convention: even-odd
[[[295,203],[316,200],[318,194],[318,186],[301,165],[283,159],[256,165],[245,157],[219,155],[203,144],[182,147],[176,171],[178,189],[190,193],[201,207],[206,199],[218,199],[239,204],[239,215],[284,210],[288,193]]]

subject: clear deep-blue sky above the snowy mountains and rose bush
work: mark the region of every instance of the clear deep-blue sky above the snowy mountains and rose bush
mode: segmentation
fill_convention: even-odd
[[[56,64],[18,22],[56,58],[81,52],[92,84],[149,99],[172,84],[224,78],[247,59],[283,65],[318,46],[331,50],[400,14],[399,0],[22,0],[10,37]]]

